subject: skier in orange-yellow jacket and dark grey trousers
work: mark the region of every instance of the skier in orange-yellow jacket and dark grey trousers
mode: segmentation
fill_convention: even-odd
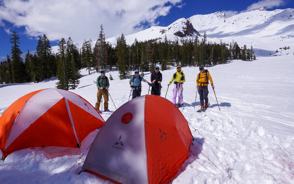
[[[208,80],[211,83],[211,87],[214,90],[213,81],[212,78],[208,72],[208,70],[204,70],[204,67],[199,67],[200,73],[197,75],[197,86],[198,87],[198,93],[199,93],[199,99],[200,99],[200,105],[201,109],[206,109],[208,106]],[[204,106],[204,100],[205,100],[205,106]]]

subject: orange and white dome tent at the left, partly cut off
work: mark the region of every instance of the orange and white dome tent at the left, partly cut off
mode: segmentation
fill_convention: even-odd
[[[95,108],[62,89],[41,89],[20,97],[0,117],[2,160],[27,147],[80,147],[89,132],[104,124]]]

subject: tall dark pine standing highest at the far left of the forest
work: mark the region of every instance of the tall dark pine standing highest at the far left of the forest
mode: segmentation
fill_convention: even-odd
[[[25,66],[23,59],[21,58],[21,50],[19,49],[19,36],[14,31],[12,33],[13,36],[10,38],[10,43],[13,44],[11,47],[11,72],[12,72],[12,78],[14,83],[23,83],[24,82],[24,75],[25,75]]]

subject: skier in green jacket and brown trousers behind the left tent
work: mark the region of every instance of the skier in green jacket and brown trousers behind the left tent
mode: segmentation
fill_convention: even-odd
[[[97,102],[95,104],[95,109],[101,113],[101,111],[99,110],[100,107],[100,103],[102,100],[102,94],[104,97],[104,111],[109,111],[108,109],[108,87],[109,87],[109,80],[108,78],[105,76],[105,71],[101,70],[101,75],[99,77],[97,77],[97,81],[96,81],[96,86],[98,88],[98,92],[97,92]]]

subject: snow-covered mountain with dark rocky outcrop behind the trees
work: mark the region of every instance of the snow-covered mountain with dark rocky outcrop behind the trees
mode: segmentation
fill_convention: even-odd
[[[225,13],[216,12],[207,15],[194,15],[190,18],[181,18],[167,27],[152,26],[148,29],[131,35],[124,35],[127,44],[132,44],[135,38],[138,41],[160,38],[168,40],[194,38],[207,34],[208,42],[230,43],[237,42],[239,46],[253,45],[255,49],[265,49],[269,52],[277,47],[294,47],[294,9],[277,9],[267,11],[259,8],[253,11],[237,14],[232,17]],[[116,44],[117,37],[106,39]],[[280,39],[281,45],[269,44],[273,39]],[[269,52],[267,54],[269,54]]]

